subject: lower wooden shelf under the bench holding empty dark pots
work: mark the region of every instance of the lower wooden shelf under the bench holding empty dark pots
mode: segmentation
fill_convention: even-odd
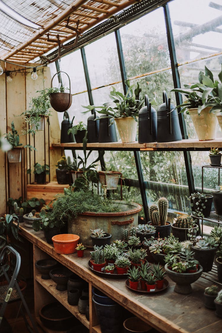
[[[84,326],[89,328],[89,320],[86,319],[85,314],[78,310],[77,305],[70,305],[67,301],[67,290],[59,291],[56,289],[56,283],[53,280],[44,280],[41,275],[37,275],[38,281],[51,295],[53,295],[67,310],[69,310]]]

